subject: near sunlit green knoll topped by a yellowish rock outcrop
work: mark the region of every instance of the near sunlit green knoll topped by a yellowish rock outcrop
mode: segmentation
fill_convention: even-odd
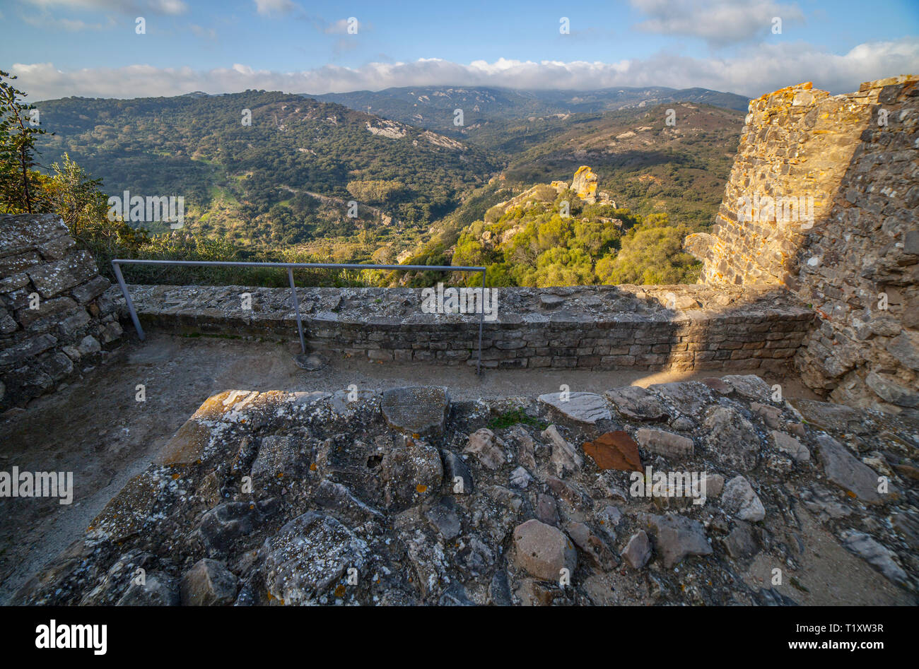
[[[486,210],[459,232],[454,265],[487,266],[493,286],[691,283],[698,263],[682,250],[691,232],[666,213],[642,216],[573,181],[529,188]],[[595,194],[596,193],[596,194]],[[599,195],[600,197],[596,197]]]

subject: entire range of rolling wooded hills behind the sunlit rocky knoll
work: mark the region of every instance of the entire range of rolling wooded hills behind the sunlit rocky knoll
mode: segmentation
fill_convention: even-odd
[[[454,105],[475,96],[464,119],[471,124],[441,132],[430,119],[412,124],[266,91],[70,97],[39,103],[42,126],[54,132],[41,137],[40,160],[48,166],[69,153],[103,179],[109,195],[182,195],[191,232],[241,248],[335,262],[448,262],[459,232],[494,204],[570,179],[582,164],[619,207],[667,212],[675,224],[704,229],[743,126],[734,109],[649,105],[684,94],[664,88],[595,91],[578,100],[564,91],[414,90],[428,90],[450,119]],[[719,101],[738,97],[688,90]],[[554,111],[562,105],[569,110]],[[612,105],[624,108],[580,110]],[[351,201],[356,218],[348,216]],[[156,221],[143,227],[168,230]]]

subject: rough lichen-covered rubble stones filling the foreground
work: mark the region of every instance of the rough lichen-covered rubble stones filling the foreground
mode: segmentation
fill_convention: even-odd
[[[905,420],[754,376],[224,391],[13,603],[915,604]]]

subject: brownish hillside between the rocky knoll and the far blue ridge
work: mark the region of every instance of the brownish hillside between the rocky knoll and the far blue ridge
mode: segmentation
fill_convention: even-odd
[[[495,122],[470,140],[510,153],[504,172],[509,183],[570,179],[587,164],[620,206],[641,214],[667,212],[703,229],[718,211],[741,128],[741,112],[680,103],[564,120]]]

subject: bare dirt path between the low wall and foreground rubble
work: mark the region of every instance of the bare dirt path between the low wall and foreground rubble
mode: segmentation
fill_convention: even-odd
[[[334,360],[323,369],[296,368],[289,345],[151,334],[125,343],[83,380],[38,398],[26,410],[0,418],[0,470],[73,471],[74,503],[41,498],[0,498],[0,604],[74,539],[132,476],[211,394],[228,389],[336,391],[400,385],[445,385],[455,400],[535,396],[558,391],[604,391],[711,376],[550,369],[486,370]],[[789,397],[812,397],[794,379]],[[145,386],[146,401],[135,400]]]

